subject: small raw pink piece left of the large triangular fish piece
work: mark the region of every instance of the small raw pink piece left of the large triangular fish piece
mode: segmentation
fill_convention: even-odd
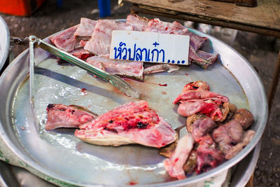
[[[48,118],[45,123],[45,130],[60,127],[78,128],[80,125],[97,118],[97,114],[77,105],[48,104],[47,113]]]

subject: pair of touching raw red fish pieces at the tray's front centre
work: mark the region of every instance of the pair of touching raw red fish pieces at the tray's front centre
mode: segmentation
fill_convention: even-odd
[[[176,140],[167,121],[148,107],[145,101],[129,102],[96,116],[82,107],[49,104],[46,130],[76,127],[75,135],[90,144],[120,146],[141,144],[161,148]]]

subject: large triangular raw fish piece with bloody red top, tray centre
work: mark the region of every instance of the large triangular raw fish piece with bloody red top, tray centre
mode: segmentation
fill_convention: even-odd
[[[141,144],[160,148],[176,140],[176,132],[145,101],[120,105],[92,123],[80,125],[76,137],[90,144]]]

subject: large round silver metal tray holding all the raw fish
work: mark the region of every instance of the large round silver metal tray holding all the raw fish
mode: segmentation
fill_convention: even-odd
[[[172,74],[146,76],[144,83],[130,81],[141,92],[151,108],[167,119],[172,127],[185,124],[186,118],[176,113],[173,99],[190,81],[207,81],[211,90],[230,98],[239,108],[250,109],[255,117],[251,129],[255,137],[235,158],[209,172],[172,181],[162,165],[162,156],[155,148],[130,145],[116,147],[93,146],[73,136],[73,130],[44,130],[45,108],[49,103],[79,104],[101,114],[119,104],[131,101],[82,69],[59,66],[56,59],[36,49],[35,109],[40,126],[35,127],[29,110],[28,50],[19,55],[0,78],[0,132],[8,147],[29,167],[52,178],[80,186],[129,185],[181,186],[214,176],[236,165],[258,143],[267,121],[265,91],[251,65],[222,41],[209,37],[204,50],[219,53],[218,62],[207,71],[196,67],[181,67]],[[48,41],[48,39],[46,39]],[[161,87],[158,84],[167,84]],[[81,91],[85,88],[85,92]],[[183,133],[183,131],[181,130]]]

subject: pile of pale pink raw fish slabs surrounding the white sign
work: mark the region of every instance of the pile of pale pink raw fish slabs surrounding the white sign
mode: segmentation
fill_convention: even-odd
[[[65,50],[99,69],[140,81],[143,81],[144,74],[179,69],[174,64],[160,64],[160,67],[159,65],[155,67],[155,71],[151,67],[148,71],[144,71],[143,62],[109,59],[113,30],[188,35],[190,36],[189,62],[200,64],[204,69],[207,69],[218,57],[218,54],[200,50],[207,41],[206,37],[189,32],[179,22],[162,22],[157,18],[148,20],[138,15],[128,15],[126,22],[81,18],[79,25],[52,36],[50,40],[57,48]]]

